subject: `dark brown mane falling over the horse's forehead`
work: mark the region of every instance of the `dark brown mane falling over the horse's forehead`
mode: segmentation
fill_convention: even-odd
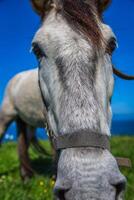
[[[99,13],[95,0],[59,0],[60,12],[74,30],[83,33],[95,47],[102,45],[103,36],[97,22]],[[96,17],[97,16],[97,17]]]

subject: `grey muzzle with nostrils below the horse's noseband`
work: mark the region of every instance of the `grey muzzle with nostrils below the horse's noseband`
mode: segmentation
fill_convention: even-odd
[[[54,193],[58,200],[122,200],[125,177],[107,150],[63,150]]]

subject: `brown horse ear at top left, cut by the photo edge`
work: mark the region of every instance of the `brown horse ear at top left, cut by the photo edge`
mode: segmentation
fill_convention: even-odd
[[[43,16],[45,14],[45,4],[47,2],[48,0],[31,0],[33,9],[40,16]]]

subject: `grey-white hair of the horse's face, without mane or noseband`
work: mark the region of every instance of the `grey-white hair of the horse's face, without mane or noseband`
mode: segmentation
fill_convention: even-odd
[[[113,37],[108,26],[99,22],[97,27],[106,42]],[[33,39],[33,45],[44,53],[39,62],[40,86],[42,92],[47,87],[49,120],[58,135],[82,129],[110,135],[114,83],[111,55],[106,45],[98,45],[98,53],[94,39],[90,39],[55,9]],[[70,148],[61,152],[55,184],[57,199],[119,200],[116,186],[120,183],[121,194],[125,178],[109,151]]]

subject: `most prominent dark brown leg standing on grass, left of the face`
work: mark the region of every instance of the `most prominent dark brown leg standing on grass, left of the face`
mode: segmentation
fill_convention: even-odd
[[[29,139],[27,137],[27,125],[20,118],[17,119],[18,129],[18,153],[20,159],[20,173],[23,180],[27,180],[33,176],[34,171],[30,166],[30,159],[28,155]]]

